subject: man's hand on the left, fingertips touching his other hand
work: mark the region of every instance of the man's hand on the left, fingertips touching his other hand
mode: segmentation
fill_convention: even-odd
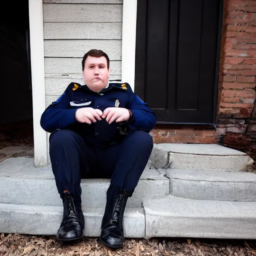
[[[91,124],[91,122],[96,122],[101,120],[102,111],[99,109],[94,109],[92,107],[82,107],[75,111],[75,119],[78,122],[85,122]]]

